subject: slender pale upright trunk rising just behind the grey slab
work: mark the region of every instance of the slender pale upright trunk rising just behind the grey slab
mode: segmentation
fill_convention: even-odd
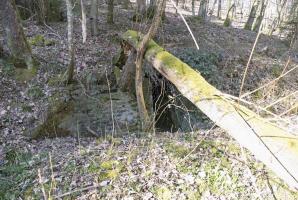
[[[67,72],[67,83],[73,81],[74,65],[75,65],[75,52],[73,42],[73,12],[72,12],[72,0],[66,0],[67,8],[67,41],[68,41],[68,53],[70,57],[68,72]]]

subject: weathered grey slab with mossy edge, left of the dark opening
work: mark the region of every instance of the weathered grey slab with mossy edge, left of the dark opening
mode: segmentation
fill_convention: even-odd
[[[102,136],[138,128],[135,101],[124,92],[93,85],[87,90],[77,84],[65,89],[52,103],[36,127],[27,130],[31,138]],[[66,94],[66,95],[65,95]]]

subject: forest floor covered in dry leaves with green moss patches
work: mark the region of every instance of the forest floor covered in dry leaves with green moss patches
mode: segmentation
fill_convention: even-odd
[[[105,13],[100,13],[99,35],[88,36],[86,44],[76,18],[77,79],[111,68],[119,35],[126,30],[148,29],[150,22],[130,20],[132,10],[115,9],[115,24],[106,24]],[[217,87],[238,96],[256,33],[202,23],[195,17],[187,21],[201,51],[221,57]],[[63,87],[55,78],[61,78],[67,69],[66,25],[24,23],[40,62],[32,80],[22,80],[13,67],[0,63],[0,199],[298,199],[297,193],[219,128],[29,140],[24,131],[42,118],[49,97]],[[155,40],[175,55],[195,47],[182,20],[172,13],[167,13]],[[244,93],[278,78],[289,56],[292,61],[286,71],[297,66],[297,52],[289,53],[288,45],[276,37],[261,35]],[[294,93],[298,90],[297,71],[246,100],[264,107]],[[282,125],[292,132],[297,132],[297,111],[283,113],[297,100],[296,92],[271,108],[289,122],[291,126]]]

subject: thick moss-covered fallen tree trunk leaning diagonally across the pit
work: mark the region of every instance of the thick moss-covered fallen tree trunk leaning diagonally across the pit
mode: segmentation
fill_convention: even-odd
[[[137,49],[142,37],[136,31],[127,31],[122,39]],[[291,188],[298,189],[298,137],[225,98],[226,95],[210,85],[200,73],[153,40],[147,46],[145,59],[214,123],[252,152]]]

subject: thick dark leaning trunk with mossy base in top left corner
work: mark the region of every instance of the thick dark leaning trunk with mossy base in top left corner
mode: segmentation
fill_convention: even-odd
[[[13,64],[16,67],[33,69],[35,66],[31,48],[24,34],[14,0],[0,1],[0,18]]]

